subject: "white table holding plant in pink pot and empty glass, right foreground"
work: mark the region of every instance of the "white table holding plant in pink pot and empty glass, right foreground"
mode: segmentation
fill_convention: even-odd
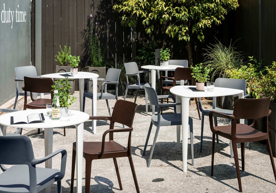
[[[208,92],[205,86],[204,92],[194,92],[189,87],[196,86],[174,86],[170,93],[175,94],[176,102],[181,102],[181,110],[177,108],[177,113],[181,112],[182,117],[182,157],[183,171],[187,172],[187,152],[188,152],[188,128],[189,128],[189,100],[197,97],[228,96],[237,94],[239,98],[244,98],[244,91],[232,88],[214,87],[213,92]],[[241,120],[244,123],[244,120]]]

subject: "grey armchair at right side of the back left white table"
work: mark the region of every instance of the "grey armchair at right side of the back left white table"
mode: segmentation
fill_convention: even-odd
[[[106,105],[108,108],[109,116],[111,116],[110,113],[110,108],[108,104],[108,99],[116,99],[118,101],[118,84],[119,84],[119,76],[120,76],[120,69],[116,68],[110,68],[108,69],[106,73],[106,78],[98,78],[99,81],[105,81],[101,85],[101,92],[97,93],[97,99],[105,99],[106,100]],[[107,92],[107,85],[108,84],[115,84],[115,94],[110,94]],[[93,93],[89,92],[89,79],[87,80],[87,91],[83,93],[83,112],[85,109],[85,98],[93,99]],[[93,105],[92,105],[92,111],[93,111]]]

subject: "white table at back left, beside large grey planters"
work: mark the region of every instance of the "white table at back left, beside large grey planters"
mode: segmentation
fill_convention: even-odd
[[[68,72],[62,73],[54,73],[54,74],[45,74],[41,75],[42,78],[55,78],[55,79],[65,79],[66,77],[61,76],[60,74],[68,74]],[[83,93],[84,93],[84,79],[92,79],[93,81],[93,93],[97,93],[98,86],[97,86],[97,78],[99,77],[98,74],[91,73],[91,72],[78,72],[78,74],[69,76],[68,79],[79,79],[79,87],[80,87],[80,111],[83,111]],[[92,99],[93,111],[92,116],[97,116],[97,97],[93,97]],[[96,134],[96,120],[92,121],[92,131],[93,134]]]

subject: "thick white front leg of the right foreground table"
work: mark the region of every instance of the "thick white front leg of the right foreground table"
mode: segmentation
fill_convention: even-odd
[[[190,98],[181,97],[183,172],[187,172],[189,100]]]

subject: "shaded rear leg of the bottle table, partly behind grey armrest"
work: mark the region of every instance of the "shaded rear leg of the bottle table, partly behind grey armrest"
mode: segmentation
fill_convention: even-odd
[[[53,153],[53,128],[44,129],[45,156]],[[52,159],[45,162],[45,168],[52,168]],[[47,193],[51,193],[51,186],[46,188]]]

